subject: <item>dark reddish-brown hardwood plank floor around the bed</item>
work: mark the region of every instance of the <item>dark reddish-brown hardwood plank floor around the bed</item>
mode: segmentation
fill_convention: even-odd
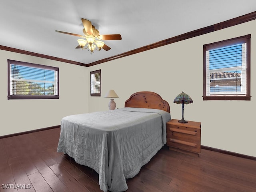
[[[55,128],[0,139],[0,191],[100,192],[94,170],[56,152],[59,134]],[[164,146],[127,184],[127,192],[255,192],[256,161]]]

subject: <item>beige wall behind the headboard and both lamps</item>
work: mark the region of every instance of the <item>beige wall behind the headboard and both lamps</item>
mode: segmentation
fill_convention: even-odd
[[[89,112],[108,110],[109,89],[119,96],[117,108],[134,92],[153,91],[169,102],[172,118],[180,119],[181,105],[173,100],[184,91],[194,101],[185,105],[184,118],[202,122],[202,145],[256,156],[255,26],[256,20],[89,67],[88,74],[102,72],[102,96],[89,97]],[[251,101],[203,101],[203,44],[246,34],[252,35]]]

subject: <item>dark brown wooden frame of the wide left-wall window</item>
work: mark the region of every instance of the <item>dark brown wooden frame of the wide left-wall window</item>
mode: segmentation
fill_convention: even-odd
[[[52,67],[52,66],[46,66],[41,64],[34,64],[34,63],[28,63],[28,62],[22,62],[22,61],[15,61],[15,60],[9,60],[8,63],[8,96],[7,99],[59,99],[60,98],[60,92],[59,92],[59,68],[58,67]],[[27,67],[34,67],[34,68],[40,68],[40,69],[46,69],[46,70],[54,70],[57,72],[57,95],[11,95],[11,85],[10,85],[10,66],[12,64],[20,65],[20,66],[27,66]]]

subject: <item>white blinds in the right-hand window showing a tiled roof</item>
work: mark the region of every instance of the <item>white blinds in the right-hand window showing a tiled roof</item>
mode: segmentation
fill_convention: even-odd
[[[206,95],[246,94],[246,43],[206,51]]]

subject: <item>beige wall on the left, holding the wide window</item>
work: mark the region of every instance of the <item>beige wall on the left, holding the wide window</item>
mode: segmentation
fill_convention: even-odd
[[[7,100],[7,59],[59,67],[60,99]],[[88,112],[88,68],[0,50],[0,136],[60,125]]]

